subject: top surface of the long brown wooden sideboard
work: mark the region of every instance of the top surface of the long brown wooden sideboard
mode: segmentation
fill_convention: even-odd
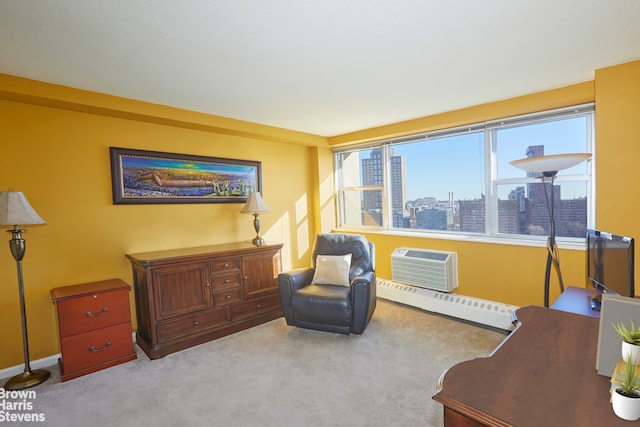
[[[163,251],[142,252],[136,254],[127,254],[127,258],[131,261],[146,264],[158,260],[169,260],[184,257],[192,257],[198,255],[225,255],[242,252],[259,252],[263,250],[278,250],[282,248],[282,243],[267,242],[264,245],[256,246],[251,242],[233,242],[218,245],[199,246],[195,248],[178,248]]]

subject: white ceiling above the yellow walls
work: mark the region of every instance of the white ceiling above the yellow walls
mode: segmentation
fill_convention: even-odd
[[[637,0],[0,0],[0,73],[322,136],[638,59]]]

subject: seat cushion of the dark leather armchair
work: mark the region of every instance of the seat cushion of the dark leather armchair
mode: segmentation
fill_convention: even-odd
[[[339,285],[307,285],[291,294],[291,309],[298,320],[349,326],[351,288]]]

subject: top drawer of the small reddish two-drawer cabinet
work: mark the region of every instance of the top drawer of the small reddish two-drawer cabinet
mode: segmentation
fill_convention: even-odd
[[[131,322],[128,288],[60,300],[57,306],[61,337]]]

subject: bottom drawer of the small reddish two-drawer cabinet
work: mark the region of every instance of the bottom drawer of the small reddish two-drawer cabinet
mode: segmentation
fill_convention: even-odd
[[[61,346],[64,373],[134,354],[130,323],[63,337]]]

